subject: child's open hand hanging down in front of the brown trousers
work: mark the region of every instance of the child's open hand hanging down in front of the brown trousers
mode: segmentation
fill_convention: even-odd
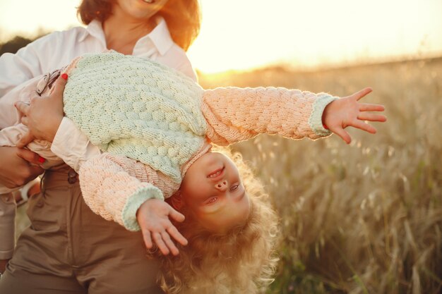
[[[173,209],[167,202],[158,199],[146,200],[138,209],[136,219],[141,227],[143,239],[146,247],[153,247],[153,242],[157,245],[163,255],[178,255],[179,251],[171,237],[181,245],[187,245],[187,240],[175,228],[169,219],[184,221],[184,215]]]

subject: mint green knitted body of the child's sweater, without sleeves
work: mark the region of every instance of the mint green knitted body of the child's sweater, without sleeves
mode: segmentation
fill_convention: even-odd
[[[180,166],[204,144],[201,87],[160,63],[116,52],[85,54],[69,74],[64,112],[105,152],[181,183]]]

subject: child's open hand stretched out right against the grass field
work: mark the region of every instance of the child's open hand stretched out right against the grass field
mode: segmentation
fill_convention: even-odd
[[[385,109],[384,106],[359,103],[359,99],[371,91],[371,88],[365,88],[364,90],[328,104],[324,109],[322,117],[324,126],[340,136],[347,144],[352,141],[350,135],[344,130],[348,126],[365,130],[368,133],[376,133],[376,129],[364,121],[386,121],[386,116],[367,112],[383,111]]]

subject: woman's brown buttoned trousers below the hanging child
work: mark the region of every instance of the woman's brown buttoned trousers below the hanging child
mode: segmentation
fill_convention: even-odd
[[[18,240],[0,293],[162,293],[155,283],[159,264],[145,256],[141,233],[94,214],[67,166],[46,172],[28,216],[31,226]]]

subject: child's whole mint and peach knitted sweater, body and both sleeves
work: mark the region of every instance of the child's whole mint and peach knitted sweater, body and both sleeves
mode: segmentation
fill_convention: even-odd
[[[88,54],[71,68],[66,116],[114,154],[80,168],[83,197],[92,211],[131,231],[139,229],[136,211],[145,200],[177,191],[189,165],[210,148],[206,140],[330,135],[323,109],[338,99],[281,87],[203,90],[177,71],[117,53]]]

